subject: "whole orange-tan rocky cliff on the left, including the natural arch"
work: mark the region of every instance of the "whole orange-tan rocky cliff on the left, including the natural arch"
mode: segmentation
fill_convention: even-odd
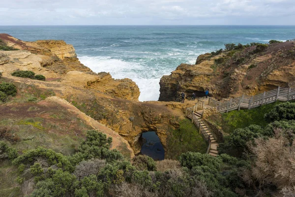
[[[111,131],[116,131],[119,135],[113,136],[118,138],[115,141],[128,142],[127,148],[131,147],[134,154],[141,150],[139,138],[145,131],[155,131],[166,147],[169,131],[177,129],[179,119],[184,117],[181,111],[183,108],[179,103],[167,105],[165,102],[139,102],[140,92],[132,80],[115,80],[106,72],[96,74],[79,62],[73,55],[71,47],[53,47],[55,42],[61,45],[64,42],[54,40],[24,42],[8,35],[0,34],[0,36],[0,39],[9,45],[21,49],[0,51],[0,72],[3,72],[4,80],[12,81],[21,89],[18,95],[29,95],[28,87],[35,87],[32,92],[40,90],[53,92],[58,98],[67,100],[84,112],[91,120],[98,121]],[[14,45],[11,44],[13,41]],[[55,50],[51,51],[51,48]],[[64,51],[61,52],[56,48],[63,48]],[[58,57],[60,54],[68,55],[62,59]],[[46,81],[11,76],[15,70],[34,71],[36,74],[46,76]],[[22,91],[24,93],[21,93]],[[18,95],[17,97],[20,97]],[[25,101],[22,102],[27,102],[28,99],[30,98],[23,99]],[[100,129],[105,133],[110,132],[109,130]]]

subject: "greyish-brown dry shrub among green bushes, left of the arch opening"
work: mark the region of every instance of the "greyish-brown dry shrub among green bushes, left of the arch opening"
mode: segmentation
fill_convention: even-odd
[[[100,159],[90,159],[88,161],[82,161],[76,166],[74,174],[78,179],[82,179],[85,176],[97,174],[97,172],[101,168],[103,168],[105,164],[106,161]]]

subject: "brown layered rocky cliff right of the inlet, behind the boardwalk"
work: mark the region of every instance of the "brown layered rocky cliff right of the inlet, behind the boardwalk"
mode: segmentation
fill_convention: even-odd
[[[280,87],[295,87],[295,42],[238,45],[218,53],[200,55],[195,65],[181,64],[160,80],[159,100],[210,96],[222,99],[254,95]]]

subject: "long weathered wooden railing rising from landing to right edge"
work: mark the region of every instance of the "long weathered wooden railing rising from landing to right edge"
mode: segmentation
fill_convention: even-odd
[[[252,109],[264,104],[272,103],[277,100],[289,101],[295,99],[295,88],[281,88],[264,92],[255,96],[243,95],[239,98],[231,99],[227,102],[219,102],[217,105],[217,111],[220,113],[229,112],[232,110],[240,109]],[[212,99],[213,100],[213,99]],[[218,102],[218,101],[217,101]],[[210,103],[210,99],[209,99]],[[211,101],[213,103],[213,101]]]

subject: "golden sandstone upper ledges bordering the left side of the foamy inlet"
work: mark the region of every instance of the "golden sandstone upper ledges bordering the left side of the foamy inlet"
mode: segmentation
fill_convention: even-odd
[[[0,51],[0,72],[31,70],[48,81],[59,80],[100,91],[121,99],[138,100],[139,88],[130,79],[113,79],[109,73],[94,73],[80,63],[72,45],[62,40],[26,42],[8,34],[0,39],[19,51]]]

